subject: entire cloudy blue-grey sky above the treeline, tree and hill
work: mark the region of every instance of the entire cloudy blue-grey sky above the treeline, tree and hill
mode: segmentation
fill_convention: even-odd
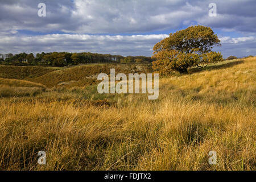
[[[209,16],[210,3],[217,16]],[[151,56],[171,32],[201,24],[216,32],[222,46],[214,51],[224,57],[256,55],[255,8],[255,0],[0,0],[0,53]]]

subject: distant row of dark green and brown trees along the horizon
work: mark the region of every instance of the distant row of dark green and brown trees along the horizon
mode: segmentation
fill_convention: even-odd
[[[19,53],[13,55],[7,53],[0,54],[0,64],[3,65],[43,65],[53,67],[65,67],[69,65],[88,64],[88,63],[151,63],[154,59],[146,56],[121,56],[104,55],[99,53],[81,52],[49,52],[37,53]]]

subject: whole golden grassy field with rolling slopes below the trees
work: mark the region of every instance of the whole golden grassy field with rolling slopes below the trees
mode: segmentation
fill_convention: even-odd
[[[256,169],[256,57],[160,77],[157,100],[99,94],[97,74],[110,68],[151,72],[1,66],[0,170]]]

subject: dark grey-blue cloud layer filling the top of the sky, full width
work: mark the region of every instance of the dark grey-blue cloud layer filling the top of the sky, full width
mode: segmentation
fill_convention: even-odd
[[[47,5],[47,16],[38,17],[38,3]],[[208,5],[217,5],[217,17],[208,16]],[[171,30],[195,21],[212,28],[255,32],[253,1],[0,1],[2,31],[64,31],[79,34],[141,33]]]

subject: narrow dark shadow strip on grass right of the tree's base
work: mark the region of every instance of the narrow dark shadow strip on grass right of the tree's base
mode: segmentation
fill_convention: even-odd
[[[189,69],[189,73],[197,73],[200,71],[205,71],[205,70],[213,70],[213,69],[225,69],[229,67],[233,67],[234,65],[242,64],[244,63],[243,60],[237,60],[237,61],[232,61],[229,63],[220,63],[219,65],[208,65],[205,68],[191,68]]]

